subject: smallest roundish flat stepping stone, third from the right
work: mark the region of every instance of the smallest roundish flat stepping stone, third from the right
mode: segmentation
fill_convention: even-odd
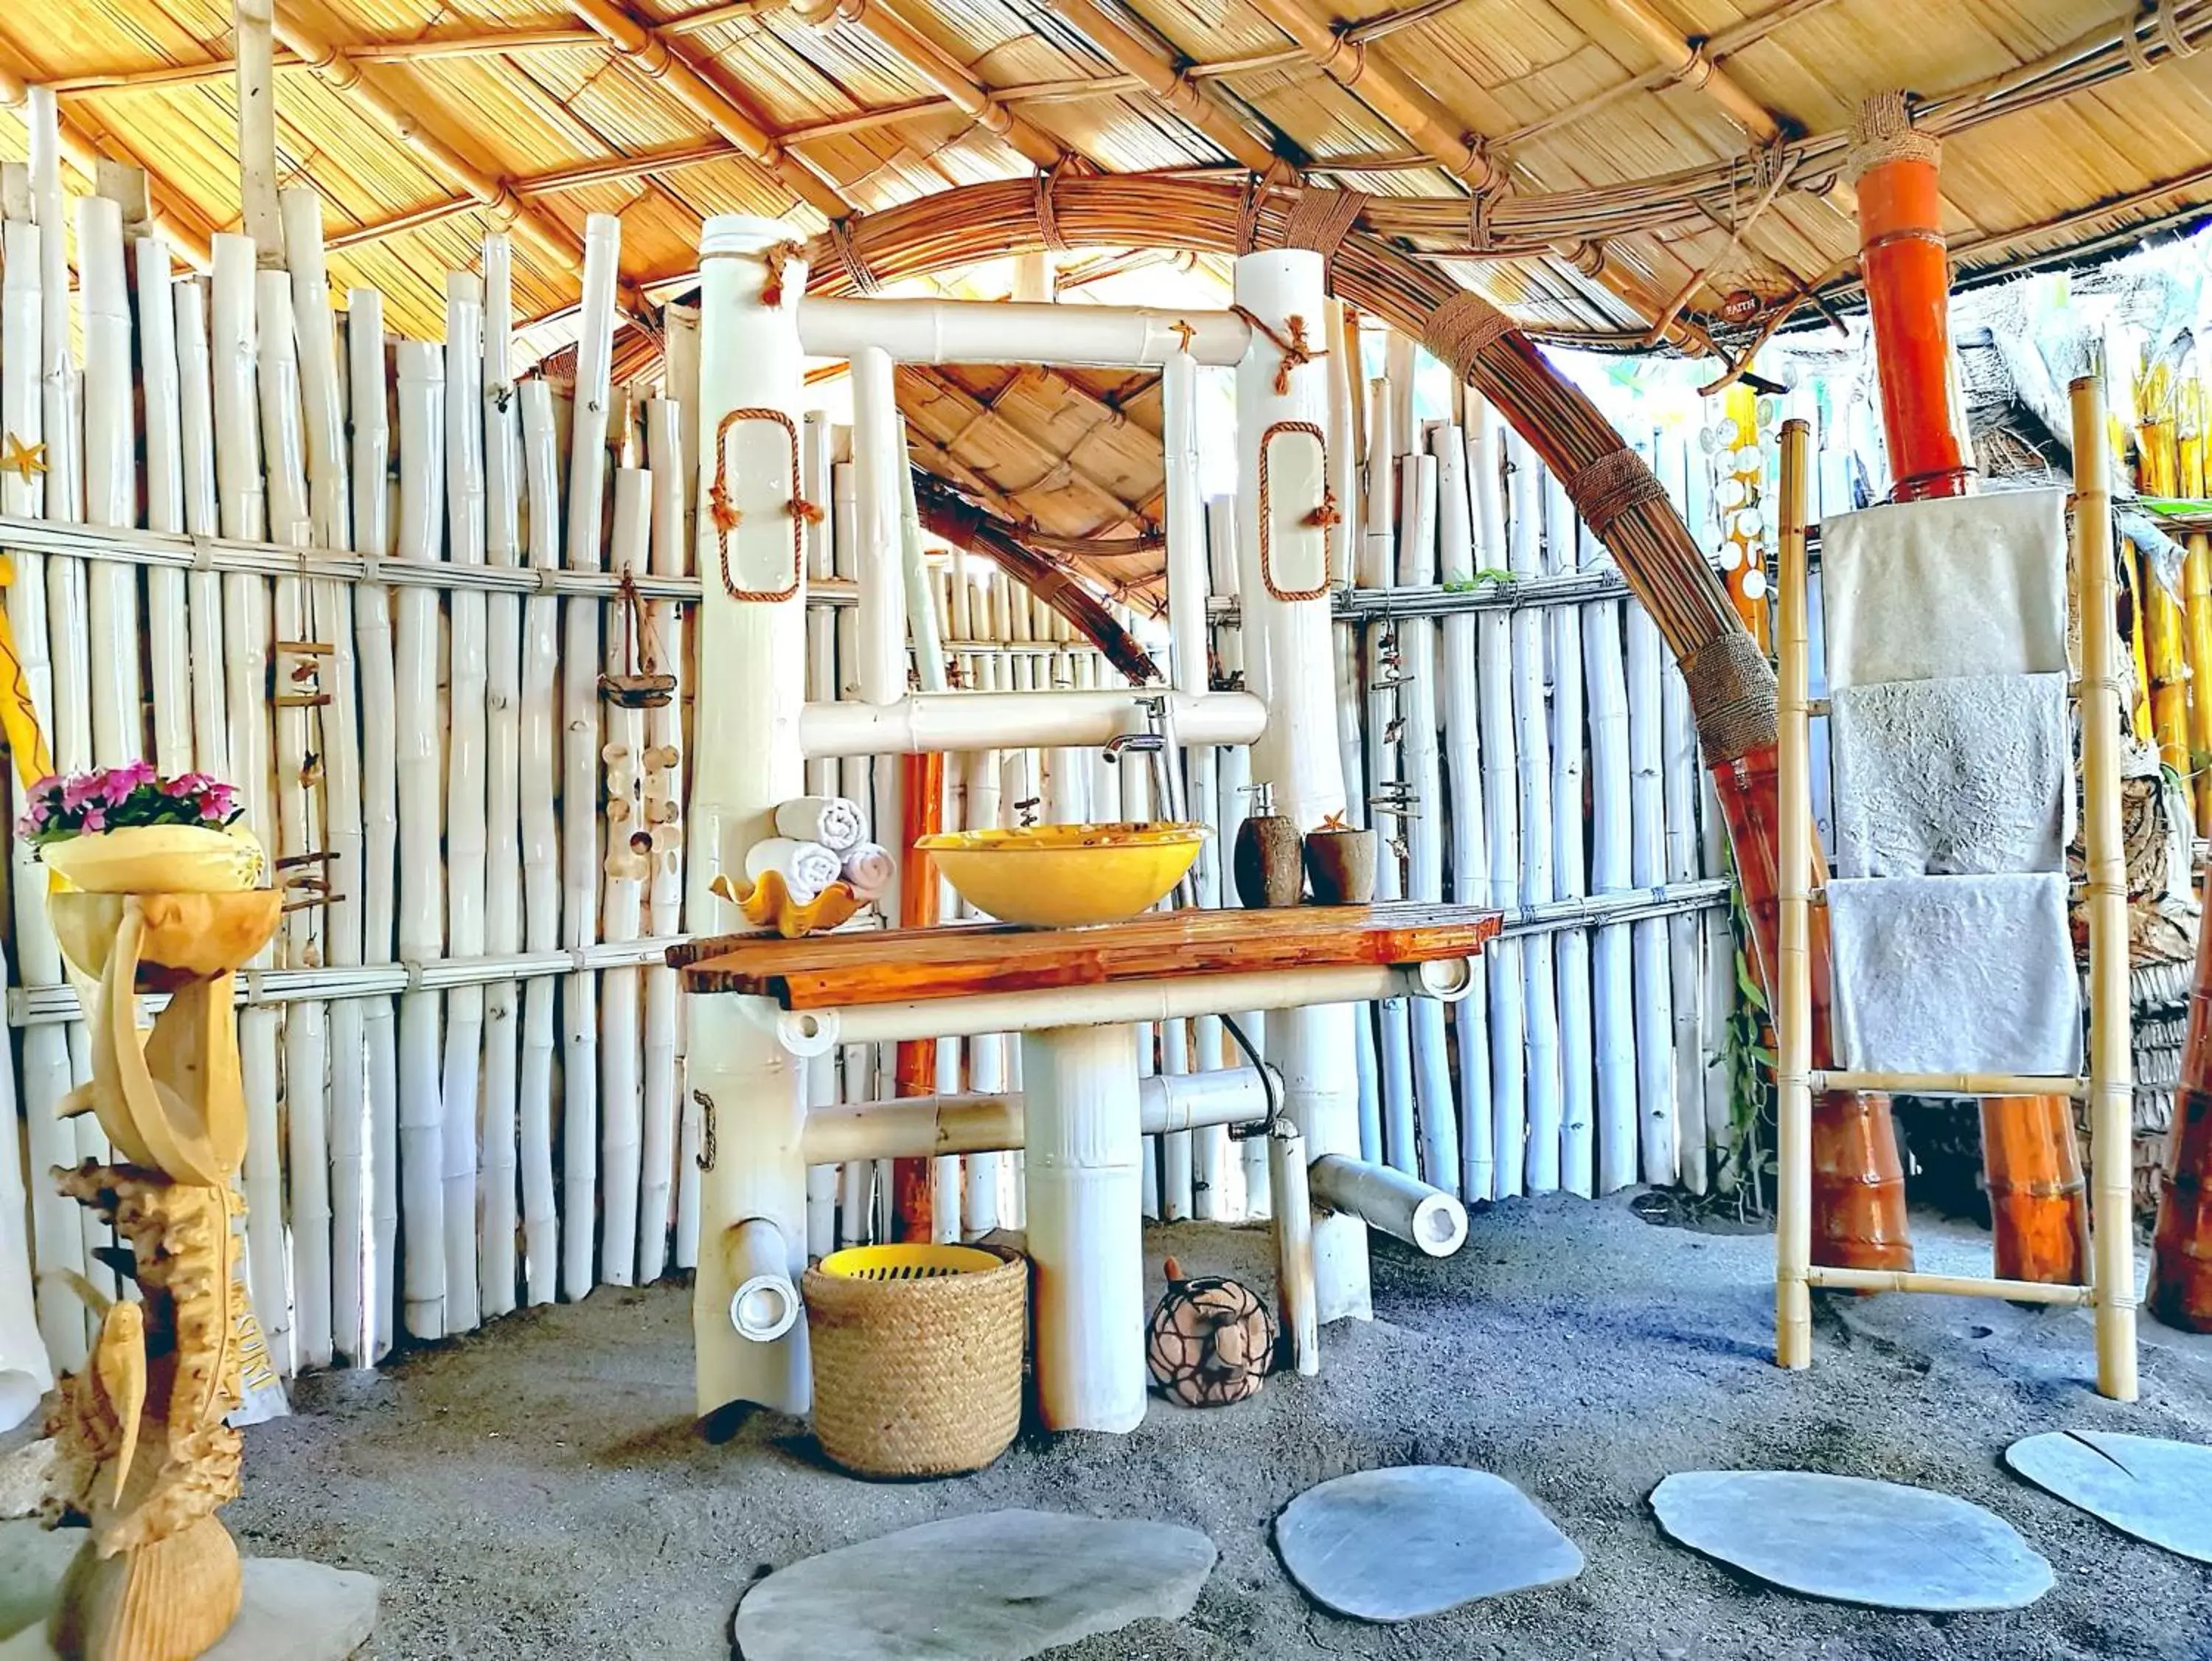
[[[1274,1546],[1307,1597],[1360,1621],[1418,1621],[1582,1573],[1582,1550],[1528,1495],[1455,1464],[1307,1488],[1274,1519]]]

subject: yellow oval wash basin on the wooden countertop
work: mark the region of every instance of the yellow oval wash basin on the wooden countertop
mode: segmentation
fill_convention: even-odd
[[[916,847],[1000,922],[1075,929],[1133,918],[1199,858],[1206,825],[1029,825],[942,832]]]

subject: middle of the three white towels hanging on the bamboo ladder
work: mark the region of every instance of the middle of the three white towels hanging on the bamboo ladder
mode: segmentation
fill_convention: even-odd
[[[2073,840],[2064,675],[1838,688],[1838,876],[2062,871]]]

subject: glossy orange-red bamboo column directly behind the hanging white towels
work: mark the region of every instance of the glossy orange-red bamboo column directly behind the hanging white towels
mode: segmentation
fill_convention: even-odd
[[[1889,440],[1891,500],[1964,495],[1973,478],[1951,403],[1951,268],[1942,237],[1942,146],[1902,93],[1869,97],[1854,128],[1858,259]],[[2088,1185],[2066,1097],[1982,1101],[1982,1168],[1997,1274],[2079,1285]]]

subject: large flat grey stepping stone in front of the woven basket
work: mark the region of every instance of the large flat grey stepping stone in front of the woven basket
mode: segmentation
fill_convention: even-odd
[[[1179,1621],[1214,1542],[1164,1522],[987,1511],[779,1568],[737,1606],[745,1661],[1024,1661]]]

